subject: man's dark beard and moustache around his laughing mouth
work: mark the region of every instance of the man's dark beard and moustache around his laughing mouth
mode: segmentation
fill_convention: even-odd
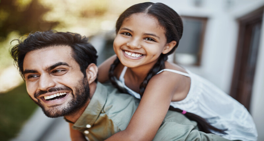
[[[67,106],[61,107],[60,105],[54,105],[52,109],[45,109],[44,105],[38,101],[36,102],[35,100],[32,100],[39,105],[39,107],[42,109],[44,114],[49,117],[49,118],[57,118],[57,117],[62,117],[65,115],[69,115],[72,112],[77,111],[80,109],[89,99],[90,95],[90,89],[89,89],[89,84],[86,78],[83,78],[83,80],[79,80],[79,83],[74,87],[75,89],[75,95],[73,94],[73,90],[67,86],[63,87],[57,87],[57,88],[50,88],[48,91],[39,91],[38,93],[35,93],[35,98],[38,95],[47,93],[47,92],[56,92],[56,91],[61,91],[61,90],[68,90],[72,94],[72,99],[67,103]]]

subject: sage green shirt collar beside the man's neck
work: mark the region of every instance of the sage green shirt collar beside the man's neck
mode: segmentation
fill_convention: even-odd
[[[93,125],[106,103],[107,95],[107,88],[100,82],[97,82],[97,87],[90,103],[83,114],[74,123],[73,128],[86,128],[87,124]]]

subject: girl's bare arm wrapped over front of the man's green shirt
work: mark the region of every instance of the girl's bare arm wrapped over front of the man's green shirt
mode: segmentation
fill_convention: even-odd
[[[128,127],[112,135],[106,141],[153,140],[167,114],[172,96],[177,88],[177,80],[172,79],[171,75],[169,72],[162,72],[150,79]]]

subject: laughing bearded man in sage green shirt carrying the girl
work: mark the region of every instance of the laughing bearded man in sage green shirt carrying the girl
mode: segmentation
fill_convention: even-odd
[[[48,31],[18,41],[10,53],[30,98],[46,116],[64,116],[89,140],[104,140],[126,128],[139,100],[97,82],[97,52],[86,37]],[[196,122],[168,111],[153,140],[227,140],[197,129]]]

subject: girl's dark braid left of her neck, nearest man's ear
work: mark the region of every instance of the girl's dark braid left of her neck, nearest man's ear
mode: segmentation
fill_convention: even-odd
[[[117,67],[117,65],[120,63],[120,60],[118,59],[118,57],[116,57],[115,61],[111,64],[110,69],[109,69],[109,80],[110,82],[121,92],[121,93],[127,93],[127,91],[125,90],[125,88],[120,87],[120,85],[117,84],[116,82],[116,77],[114,75],[114,71],[115,68]]]

